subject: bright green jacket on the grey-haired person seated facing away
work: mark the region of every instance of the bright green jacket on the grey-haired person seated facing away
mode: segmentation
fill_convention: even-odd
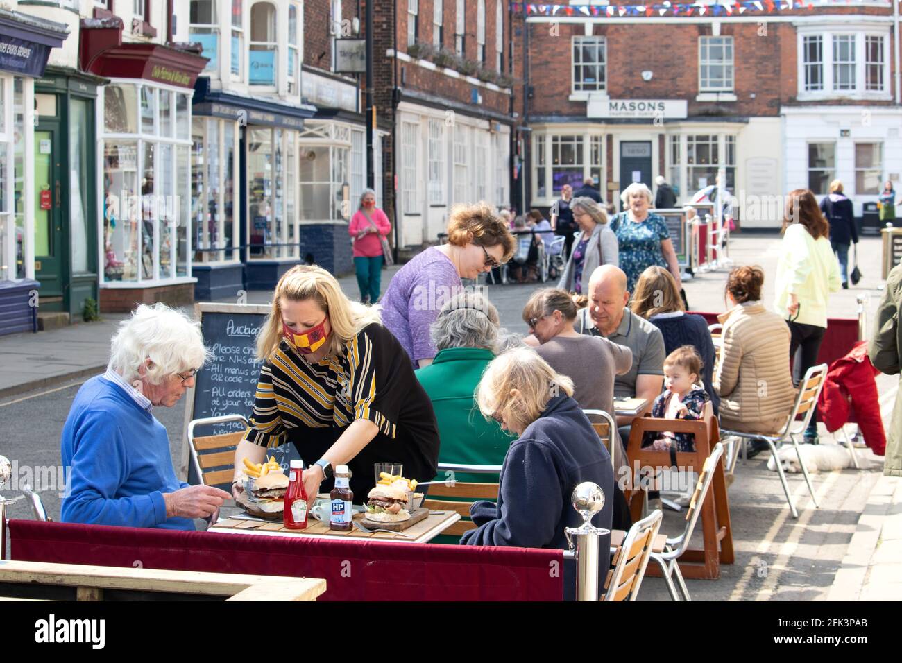
[[[474,391],[494,358],[491,350],[451,347],[439,351],[432,364],[416,372],[436,411],[439,463],[501,465],[511,441],[517,438],[494,421],[486,421],[476,407]],[[439,471],[436,480],[446,478]],[[456,473],[455,478],[470,483],[498,482],[498,474]]]

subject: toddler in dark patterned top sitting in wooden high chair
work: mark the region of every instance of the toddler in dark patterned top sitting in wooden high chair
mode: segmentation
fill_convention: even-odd
[[[664,391],[651,408],[656,419],[699,420],[705,417],[705,404],[711,401],[702,386],[702,358],[693,345],[683,345],[664,360]],[[655,451],[695,451],[692,433],[647,432],[642,447]]]

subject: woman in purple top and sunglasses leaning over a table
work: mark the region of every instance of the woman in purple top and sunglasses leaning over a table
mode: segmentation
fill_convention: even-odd
[[[494,207],[459,205],[448,218],[447,244],[430,246],[395,273],[382,297],[382,320],[414,368],[432,364],[437,355],[430,327],[442,306],[464,289],[461,279],[475,279],[508,262],[514,244]]]

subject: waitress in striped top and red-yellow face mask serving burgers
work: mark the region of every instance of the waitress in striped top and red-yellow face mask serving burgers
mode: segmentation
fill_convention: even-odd
[[[244,458],[259,463],[285,442],[307,465],[310,502],[337,465],[350,467],[357,500],[373,487],[374,463],[403,464],[418,481],[435,476],[438,429],[426,391],[378,308],[349,300],[332,274],[316,265],[285,272],[257,355],[263,365],[250,427],[235,449],[235,496]]]

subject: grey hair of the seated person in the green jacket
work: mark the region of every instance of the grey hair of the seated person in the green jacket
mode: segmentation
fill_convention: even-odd
[[[464,290],[449,299],[432,323],[437,349],[480,347],[497,351],[498,309],[478,290]],[[496,353],[497,354],[497,353]]]

